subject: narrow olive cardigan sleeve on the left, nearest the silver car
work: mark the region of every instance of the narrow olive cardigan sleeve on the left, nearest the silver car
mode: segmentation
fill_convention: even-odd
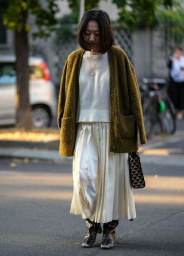
[[[59,90],[59,101],[58,101],[58,107],[57,107],[57,125],[59,129],[61,129],[64,105],[65,105],[65,84],[66,84],[67,64],[68,64],[68,60],[64,65],[62,80],[60,83],[60,90]]]

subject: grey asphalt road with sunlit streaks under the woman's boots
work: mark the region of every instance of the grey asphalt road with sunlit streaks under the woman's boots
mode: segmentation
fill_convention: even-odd
[[[180,149],[183,144],[173,146]],[[167,149],[173,146],[167,145]],[[137,218],[121,220],[116,247],[102,250],[101,235],[92,248],[81,247],[85,221],[69,214],[71,164],[0,161],[1,256],[184,255],[183,166],[167,161],[143,164],[147,186],[134,190]]]

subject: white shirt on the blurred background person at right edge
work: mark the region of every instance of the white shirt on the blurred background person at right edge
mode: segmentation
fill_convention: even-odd
[[[184,56],[182,55],[179,59],[173,59],[171,77],[175,82],[184,81],[184,71],[181,68],[184,68]]]

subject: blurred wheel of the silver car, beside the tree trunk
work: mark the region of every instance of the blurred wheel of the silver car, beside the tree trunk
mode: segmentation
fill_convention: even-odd
[[[34,127],[48,127],[51,123],[51,115],[45,106],[33,106],[32,120]]]

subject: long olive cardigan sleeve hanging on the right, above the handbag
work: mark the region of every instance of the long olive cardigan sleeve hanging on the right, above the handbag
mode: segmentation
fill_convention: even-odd
[[[147,138],[145,135],[143,110],[141,106],[139,85],[137,83],[135,70],[127,56],[125,57],[125,66],[126,66],[126,72],[127,72],[127,84],[129,88],[129,99],[131,102],[131,111],[139,129],[140,142],[141,144],[145,144],[147,142]]]

